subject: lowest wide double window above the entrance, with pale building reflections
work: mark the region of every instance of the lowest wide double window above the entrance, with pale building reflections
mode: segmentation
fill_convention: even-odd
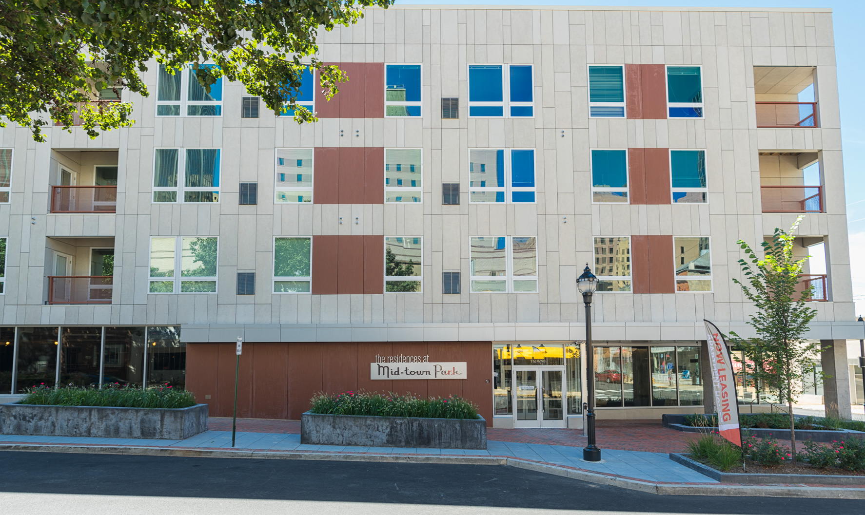
[[[534,236],[472,236],[471,292],[536,292],[536,239]]]

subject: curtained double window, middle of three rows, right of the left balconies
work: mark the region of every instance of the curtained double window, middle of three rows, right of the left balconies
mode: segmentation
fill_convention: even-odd
[[[220,149],[155,149],[154,202],[219,202]],[[178,171],[183,170],[183,180]]]

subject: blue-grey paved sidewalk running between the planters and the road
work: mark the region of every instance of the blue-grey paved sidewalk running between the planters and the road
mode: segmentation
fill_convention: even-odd
[[[670,460],[669,455],[604,449],[604,461],[582,461],[582,448],[519,442],[488,442],[486,450],[304,445],[297,434],[209,430],[186,440],[0,435],[0,450],[195,455],[271,459],[403,461],[509,465],[651,493],[768,495],[865,499],[865,487],[740,485],[720,483]]]

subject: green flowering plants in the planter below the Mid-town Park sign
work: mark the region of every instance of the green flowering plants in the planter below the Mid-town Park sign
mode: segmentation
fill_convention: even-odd
[[[477,406],[461,397],[417,397],[411,393],[384,395],[374,391],[317,393],[311,412],[319,415],[414,416],[477,419]]]

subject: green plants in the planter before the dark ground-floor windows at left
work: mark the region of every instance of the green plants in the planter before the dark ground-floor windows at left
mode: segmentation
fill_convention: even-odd
[[[195,405],[192,392],[166,385],[146,389],[130,385],[103,385],[102,389],[81,386],[51,388],[35,386],[28,389],[18,404],[50,406],[106,406],[114,408],[189,408]]]

